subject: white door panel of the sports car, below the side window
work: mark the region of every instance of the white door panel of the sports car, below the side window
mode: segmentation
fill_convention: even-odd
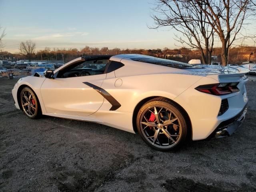
[[[104,97],[83,82],[100,87],[105,78],[106,74],[46,78],[40,88],[46,112],[81,116],[93,114],[102,105]]]

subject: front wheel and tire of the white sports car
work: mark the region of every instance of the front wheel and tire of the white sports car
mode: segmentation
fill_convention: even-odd
[[[24,97],[24,94],[26,97]],[[29,97],[31,94],[31,97]],[[30,99],[29,101],[27,99]],[[26,106],[24,106],[26,104]],[[24,87],[20,92],[20,107],[30,119],[38,119],[42,116],[42,110],[35,92],[29,87]]]

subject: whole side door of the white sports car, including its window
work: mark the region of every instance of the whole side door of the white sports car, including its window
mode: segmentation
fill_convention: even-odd
[[[71,63],[56,70],[54,79],[46,78],[40,91],[47,113],[88,116],[100,108],[104,97],[97,88],[106,79],[108,60],[93,59]]]

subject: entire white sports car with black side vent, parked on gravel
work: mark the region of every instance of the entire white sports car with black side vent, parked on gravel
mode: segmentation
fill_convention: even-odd
[[[104,67],[83,68],[88,65]],[[138,132],[152,148],[168,151],[189,140],[232,134],[246,114],[246,81],[236,71],[151,56],[84,56],[21,78],[12,95],[29,118],[97,122]]]

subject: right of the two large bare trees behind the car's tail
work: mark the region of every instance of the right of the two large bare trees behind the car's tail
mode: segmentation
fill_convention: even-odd
[[[222,65],[228,64],[228,52],[232,43],[241,35],[241,29],[256,14],[254,0],[195,0],[214,32],[222,42]]]

